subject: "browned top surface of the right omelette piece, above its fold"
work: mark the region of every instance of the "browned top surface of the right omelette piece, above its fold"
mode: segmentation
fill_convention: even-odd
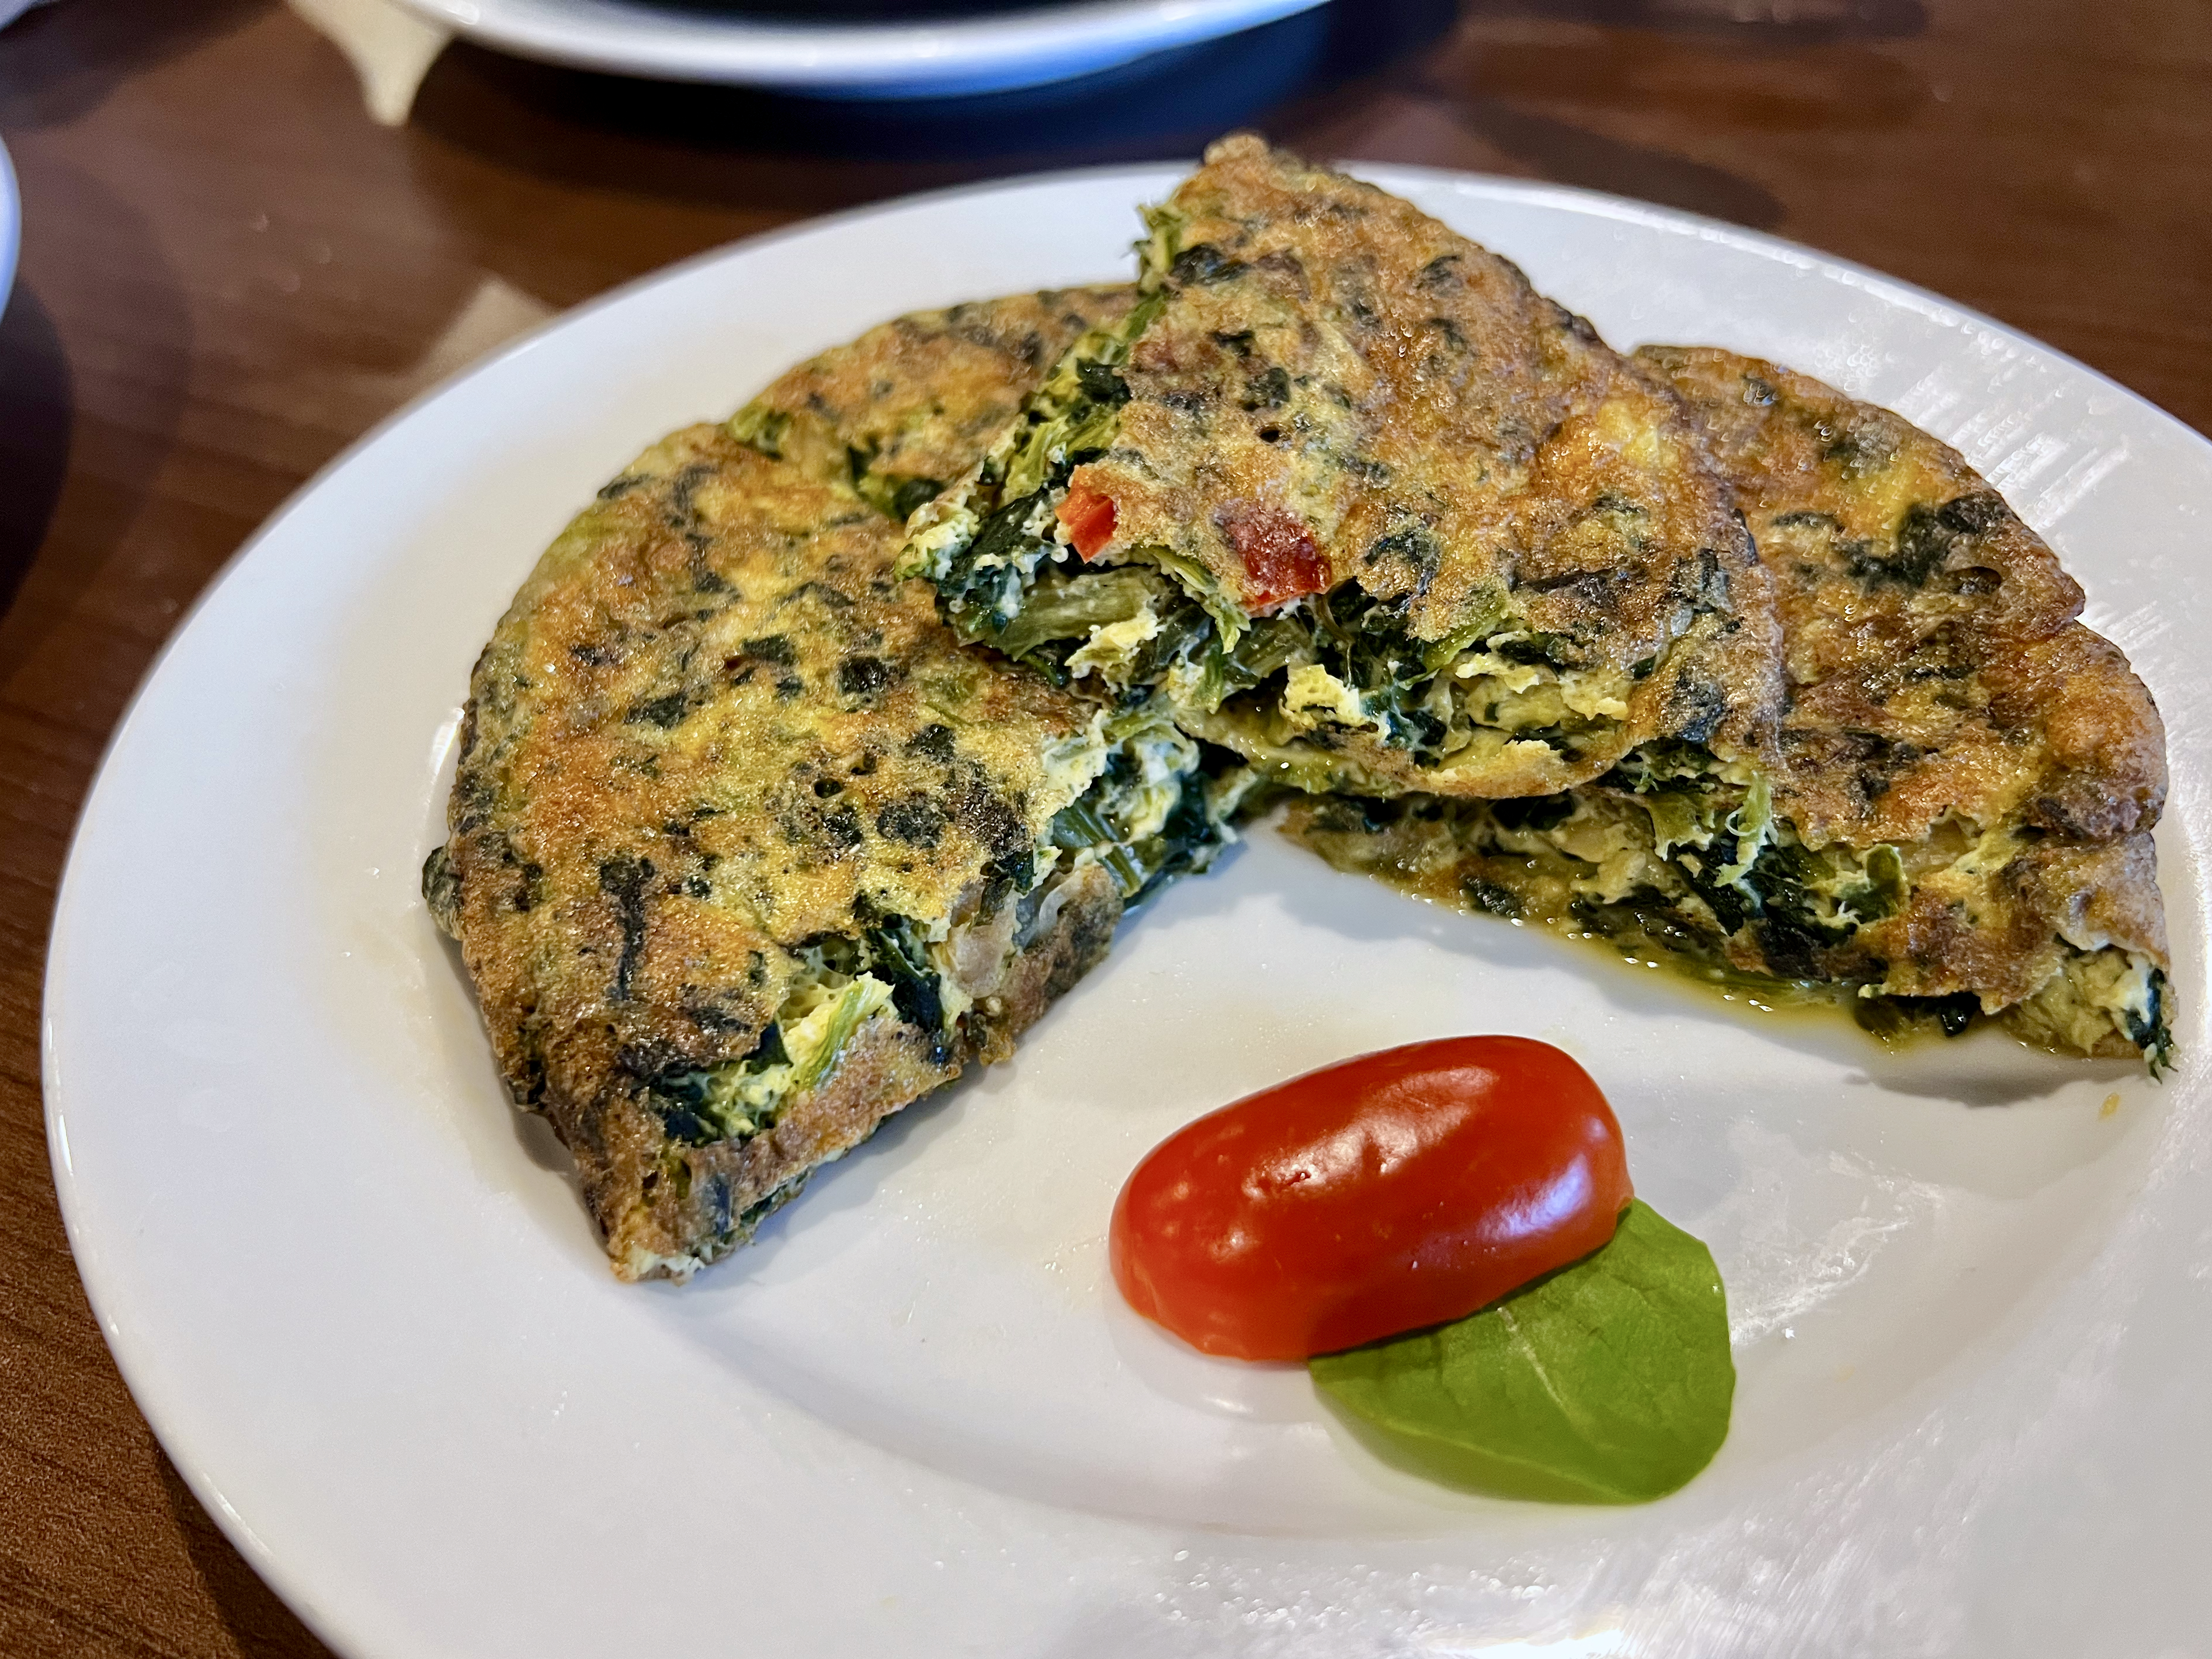
[[[2166,728],[2081,588],[1955,449],[1803,374],[1646,345],[1697,409],[1783,619],[1787,812],[1814,845],[1944,814],[2150,830]]]

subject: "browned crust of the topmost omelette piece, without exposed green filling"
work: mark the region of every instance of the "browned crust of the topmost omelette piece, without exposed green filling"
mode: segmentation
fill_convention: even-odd
[[[1506,613],[1628,701],[1575,754],[1524,741],[1425,768],[1332,732],[1365,790],[1544,794],[1652,737],[1763,745],[1765,580],[1655,374],[1513,263],[1252,135],[1212,146],[1168,212],[1181,252],[1124,365],[1119,438],[1071,480],[1115,504],[1106,562],[1164,546],[1267,611],[1239,522],[1274,515],[1310,535],[1321,586],[1402,608],[1416,639]]]

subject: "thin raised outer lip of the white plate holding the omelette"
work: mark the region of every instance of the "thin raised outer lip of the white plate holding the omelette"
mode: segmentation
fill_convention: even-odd
[[[580,323],[602,310],[628,303],[641,292],[648,292],[661,283],[679,281],[681,276],[703,270],[708,265],[743,257],[763,246],[812,237],[832,230],[836,226],[865,221],[938,201],[953,201],[962,197],[1053,188],[1053,186],[1084,184],[1084,181],[1097,184],[1106,179],[1128,179],[1133,186],[1130,201],[1135,204],[1141,201],[1144,199],[1141,192],[1150,188],[1146,184],[1148,179],[1177,177],[1179,173],[1188,170],[1188,166],[1190,161],[1172,161],[1172,159],[1144,161],[1144,164],[1099,164],[1099,166],[1060,168],[1060,170],[1044,170],[1029,175],[980,179],[936,190],[887,197],[880,201],[869,201],[838,212],[801,219],[787,226],[776,226],[772,230],[757,232],[752,237],[741,237],[728,243],[719,243],[714,248],[701,250],[686,259],[672,261],[668,265],[628,279],[602,294],[595,294],[593,299],[566,312],[560,312],[557,316],[546,319],[526,334],[502,343],[493,352],[487,352],[484,356],[469,363],[453,376],[440,380],[438,385],[422,389],[420,394],[396,407],[392,414],[383,416],[369,429],[365,429],[349,445],[345,445],[323,467],[319,467],[290,495],[285,495],[285,500],[248,538],[241,540],[241,544],[232,551],[228,560],[223,560],[223,564],[201,588],[201,593],[179,615],[168,639],[164,639],[161,648],[153,655],[144,675],[139,677],[139,684],[133,688],[128,701],[124,703],[124,710],[119,712],[113,730],[108,732],[106,743],[102,745],[97,765],[93,768],[93,776],[84,790],[84,799],[77,810],[77,821],[71,827],[69,854],[62,867],[62,878],[55,887],[49,947],[42,962],[40,1082],[42,1082],[42,1121],[49,1139],[51,1172],[62,1210],[64,1232],[71,1245],[71,1259],[77,1265],[77,1276],[84,1287],[86,1301],[91,1303],[93,1316],[100,1323],[102,1338],[108,1345],[117,1371],[122,1374],[124,1385],[131,1391],[133,1405],[144,1416],[148,1429],[155,1433],[155,1440],[161,1444],[164,1455],[170,1458],[173,1467],[177,1469],[186,1486],[192,1491],[195,1500],[201,1502],[201,1506],[217,1522],[217,1526],[232,1542],[232,1546],[239,1548],[239,1553],[248,1559],[254,1573],[261,1575],[272,1586],[272,1590],[279,1593],[285,1606],[292,1608],[301,1617],[301,1621],[307,1624],[316,1632],[316,1637],[323,1639],[334,1652],[343,1655],[367,1652],[367,1648],[354,1646],[352,1639],[352,1635],[365,1635],[365,1632],[341,1632],[336,1615],[323,1604],[323,1597],[314,1590],[314,1586],[305,1582],[303,1571],[294,1571],[290,1566],[288,1555],[279,1553],[268,1540],[263,1540],[259,1533],[252,1531],[252,1526],[248,1526],[246,1517],[226,1498],[212,1467],[190,1453],[186,1436],[179,1433],[179,1429],[173,1422],[173,1411],[168,1409],[168,1402],[159,1394],[148,1394],[148,1389],[144,1387],[150,1371],[157,1369],[157,1363],[153,1360],[146,1340],[131,1334],[111,1312],[113,1298],[124,1292],[115,1290],[113,1285],[104,1290],[102,1283],[95,1283],[97,1270],[93,1270],[91,1263],[102,1263],[106,1252],[91,1248],[91,1241],[82,1239],[84,1199],[77,1197],[77,1179],[69,1164],[64,1102],[62,1102],[66,1086],[62,1082],[62,1055],[58,1053],[55,1018],[53,1018],[53,967],[71,942],[69,916],[73,909],[73,889],[82,883],[80,869],[82,869],[84,825],[91,818],[91,810],[97,803],[100,794],[113,787],[111,765],[117,748],[128,734],[133,721],[139,719],[142,706],[146,703],[153,688],[159,684],[164,670],[170,664],[173,653],[181,648],[192,626],[201,619],[201,611],[210,606],[217,599],[217,595],[223,593],[239,577],[248,560],[263,553],[265,546],[279,538],[283,524],[292,518],[294,511],[301,509],[301,504],[307,498],[319,493],[323,487],[330,484],[330,480],[336,473],[352,467],[367,449],[385,442],[396,429],[416,420],[427,407],[431,407],[440,398],[453,396],[460,387],[476,380],[478,376],[493,374],[504,363],[538,349],[546,338],[568,327],[571,323]],[[1486,173],[1420,166],[1420,164],[1363,161],[1356,157],[1332,161],[1332,166],[1340,166],[1354,173],[1356,177],[1371,179],[1385,188],[1398,188],[1394,184],[1396,179],[1442,184],[1455,190],[1471,190],[1473,195],[1489,199],[1524,201],[1601,219],[1637,223],[1652,230],[1663,230],[1668,234],[1697,237],[1699,241],[1714,241],[1723,246],[1752,250],[1770,259],[1778,259],[1781,263],[1792,263],[1814,272],[1834,272],[1847,276],[1854,285],[1865,288],[1867,292],[1878,294],[1891,303],[1909,305],[1929,321],[1947,325],[1971,323],[1982,330],[1989,330],[1991,334],[2013,345],[2031,347],[2035,354],[2048,356],[2066,365],[2068,369],[2088,376],[2099,387],[2121,394],[2135,405],[2141,405],[2143,411],[2157,416],[2161,422],[2170,425],[2185,438],[2194,440],[2194,445],[2212,451],[2212,438],[2197,431],[2179,416],[2166,411],[2148,396],[2135,392],[2132,387],[2126,387],[2124,383],[2115,380],[2101,369],[2081,363],[2073,354],[2062,352],[2059,347],[2053,347],[2044,341],[2037,341],[2035,336],[2026,334],[2024,330],[2011,323],[1993,319],[1973,307],[1960,305],[1933,290],[1907,283],[1898,276],[1889,276],[1858,261],[1838,254],[1827,254],[1807,243],[1776,237],[1772,232],[1734,226],[1721,219],[1712,219],[1708,215],[1694,215],[1688,210],[1666,208],[1659,204],[1648,204],[1635,197],[1621,197],[1604,190],[1588,190],[1582,186],[1515,179],[1509,175],[1486,175]],[[13,177],[11,173],[7,173],[7,153],[4,148],[0,148],[0,190],[4,190],[11,184]],[[2170,743],[2174,743],[2172,734]]]

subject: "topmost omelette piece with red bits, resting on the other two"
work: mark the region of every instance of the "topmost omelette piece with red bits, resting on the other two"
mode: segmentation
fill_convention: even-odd
[[[1765,573],[1681,398],[1495,254],[1243,135],[900,568],[962,639],[1307,790],[1761,757]]]

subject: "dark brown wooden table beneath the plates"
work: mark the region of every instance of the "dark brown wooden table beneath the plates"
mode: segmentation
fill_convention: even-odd
[[[133,1409],[40,1126],[71,823],[192,597],[343,445],[538,316],[807,215],[1237,124],[1796,237],[2212,431],[2201,4],[1340,0],[1172,73],[907,108],[453,46],[398,131],[276,0],[31,13],[0,35],[27,219],[0,321],[0,1652],[323,1650]]]

